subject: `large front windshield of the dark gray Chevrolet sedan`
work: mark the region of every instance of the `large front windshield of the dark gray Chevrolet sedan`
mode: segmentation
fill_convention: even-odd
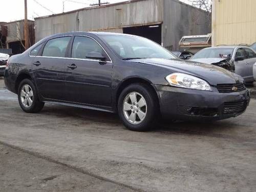
[[[137,58],[177,58],[155,42],[139,36],[102,35],[103,40],[123,60]]]

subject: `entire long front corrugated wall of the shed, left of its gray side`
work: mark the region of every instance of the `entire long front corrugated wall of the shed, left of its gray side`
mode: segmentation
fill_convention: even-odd
[[[35,40],[68,31],[122,32],[122,27],[162,22],[163,0],[134,1],[35,18]]]

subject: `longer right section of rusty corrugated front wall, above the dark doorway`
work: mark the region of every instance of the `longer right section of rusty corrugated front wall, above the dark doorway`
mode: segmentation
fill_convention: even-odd
[[[135,1],[79,11],[79,30],[112,29],[162,22],[161,2],[162,0]]]

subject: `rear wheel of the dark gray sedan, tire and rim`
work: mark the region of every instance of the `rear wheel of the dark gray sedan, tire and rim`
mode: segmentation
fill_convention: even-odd
[[[35,86],[30,79],[24,79],[18,87],[20,108],[27,113],[36,113],[44,108],[45,103],[39,101]]]

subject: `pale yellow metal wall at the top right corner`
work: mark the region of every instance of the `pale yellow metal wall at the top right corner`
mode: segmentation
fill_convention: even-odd
[[[212,1],[212,45],[256,41],[256,0]]]

